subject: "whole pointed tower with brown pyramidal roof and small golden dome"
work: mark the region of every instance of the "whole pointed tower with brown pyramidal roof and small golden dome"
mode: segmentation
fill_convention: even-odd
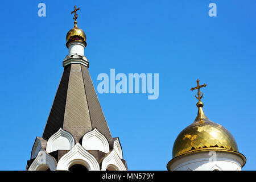
[[[113,138],[94,90],[84,56],[86,36],[68,31],[64,72],[42,137],[36,137],[27,170],[127,170],[122,147]]]

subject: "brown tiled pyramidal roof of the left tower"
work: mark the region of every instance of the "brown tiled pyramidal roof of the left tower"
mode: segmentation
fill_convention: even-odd
[[[69,56],[72,58],[82,59],[82,56]],[[60,127],[71,133],[76,142],[94,128],[108,140],[112,139],[88,67],[83,64],[64,67],[43,138],[48,140]]]

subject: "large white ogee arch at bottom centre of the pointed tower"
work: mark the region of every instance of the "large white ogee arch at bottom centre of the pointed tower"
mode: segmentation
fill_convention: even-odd
[[[63,155],[58,164],[57,170],[68,170],[69,167],[81,164],[85,166],[88,171],[99,171],[100,165],[92,154],[86,151],[80,143],[76,145],[67,154]]]

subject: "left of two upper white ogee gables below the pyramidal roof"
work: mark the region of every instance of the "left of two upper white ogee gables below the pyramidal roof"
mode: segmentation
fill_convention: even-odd
[[[72,134],[60,128],[48,139],[46,151],[50,153],[56,150],[71,150],[74,145],[75,139]]]

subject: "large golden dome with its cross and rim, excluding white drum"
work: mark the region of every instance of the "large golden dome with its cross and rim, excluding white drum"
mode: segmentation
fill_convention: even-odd
[[[174,147],[172,148],[173,159],[168,162],[167,169],[172,170],[172,164],[185,156],[210,151],[218,151],[222,154],[229,153],[233,156],[238,156],[242,159],[241,166],[243,167],[246,163],[246,158],[238,152],[237,143],[232,134],[230,134],[225,127],[210,121],[204,114],[204,104],[201,102],[203,93],[200,92],[200,88],[207,86],[207,84],[200,85],[199,81],[200,80],[197,79],[197,86],[191,88],[192,91],[197,90],[196,98],[199,100],[196,104],[198,107],[197,117],[191,125],[186,127],[177,136]]]

